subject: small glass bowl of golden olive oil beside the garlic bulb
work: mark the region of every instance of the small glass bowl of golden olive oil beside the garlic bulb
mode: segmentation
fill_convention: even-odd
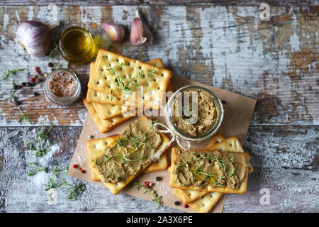
[[[91,33],[78,26],[63,31],[59,47],[62,56],[74,65],[83,65],[96,55],[96,46]]]

